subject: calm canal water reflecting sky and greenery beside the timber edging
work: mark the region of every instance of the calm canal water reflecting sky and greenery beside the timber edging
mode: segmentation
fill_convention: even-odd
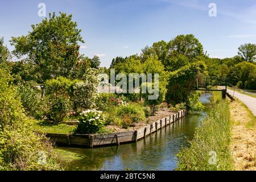
[[[207,104],[210,94],[203,94]],[[189,146],[195,128],[206,113],[191,113],[157,133],[137,143],[101,148],[56,148],[65,161],[67,170],[173,170],[177,167],[176,154]]]

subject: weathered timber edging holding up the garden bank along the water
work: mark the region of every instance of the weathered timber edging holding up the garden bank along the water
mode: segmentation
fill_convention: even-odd
[[[144,126],[138,130],[122,131],[110,134],[46,134],[46,137],[50,138],[58,146],[64,147],[99,147],[107,145],[119,145],[127,142],[137,142],[140,139],[146,138],[148,135],[157,132],[170,125],[172,122],[177,121],[179,118],[183,118],[187,115],[187,110],[180,110],[179,112],[172,114],[166,118],[159,119]]]

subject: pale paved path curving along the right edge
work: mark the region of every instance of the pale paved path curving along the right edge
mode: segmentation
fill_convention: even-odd
[[[234,91],[227,89],[227,92],[233,96]],[[250,110],[253,112],[253,114],[256,116],[256,98],[250,97],[238,92],[234,93],[234,97],[238,98],[240,101],[243,102]]]

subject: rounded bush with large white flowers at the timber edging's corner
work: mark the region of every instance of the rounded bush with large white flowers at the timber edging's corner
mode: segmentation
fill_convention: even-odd
[[[86,110],[80,114],[76,132],[81,134],[97,133],[105,124],[102,111]]]

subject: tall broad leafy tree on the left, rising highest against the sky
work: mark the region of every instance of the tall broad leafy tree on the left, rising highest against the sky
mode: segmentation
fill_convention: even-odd
[[[50,78],[68,77],[79,60],[79,42],[84,43],[72,15],[49,14],[49,19],[32,25],[32,32],[18,38],[12,37],[11,45],[17,57],[24,57],[35,64],[42,83]]]

